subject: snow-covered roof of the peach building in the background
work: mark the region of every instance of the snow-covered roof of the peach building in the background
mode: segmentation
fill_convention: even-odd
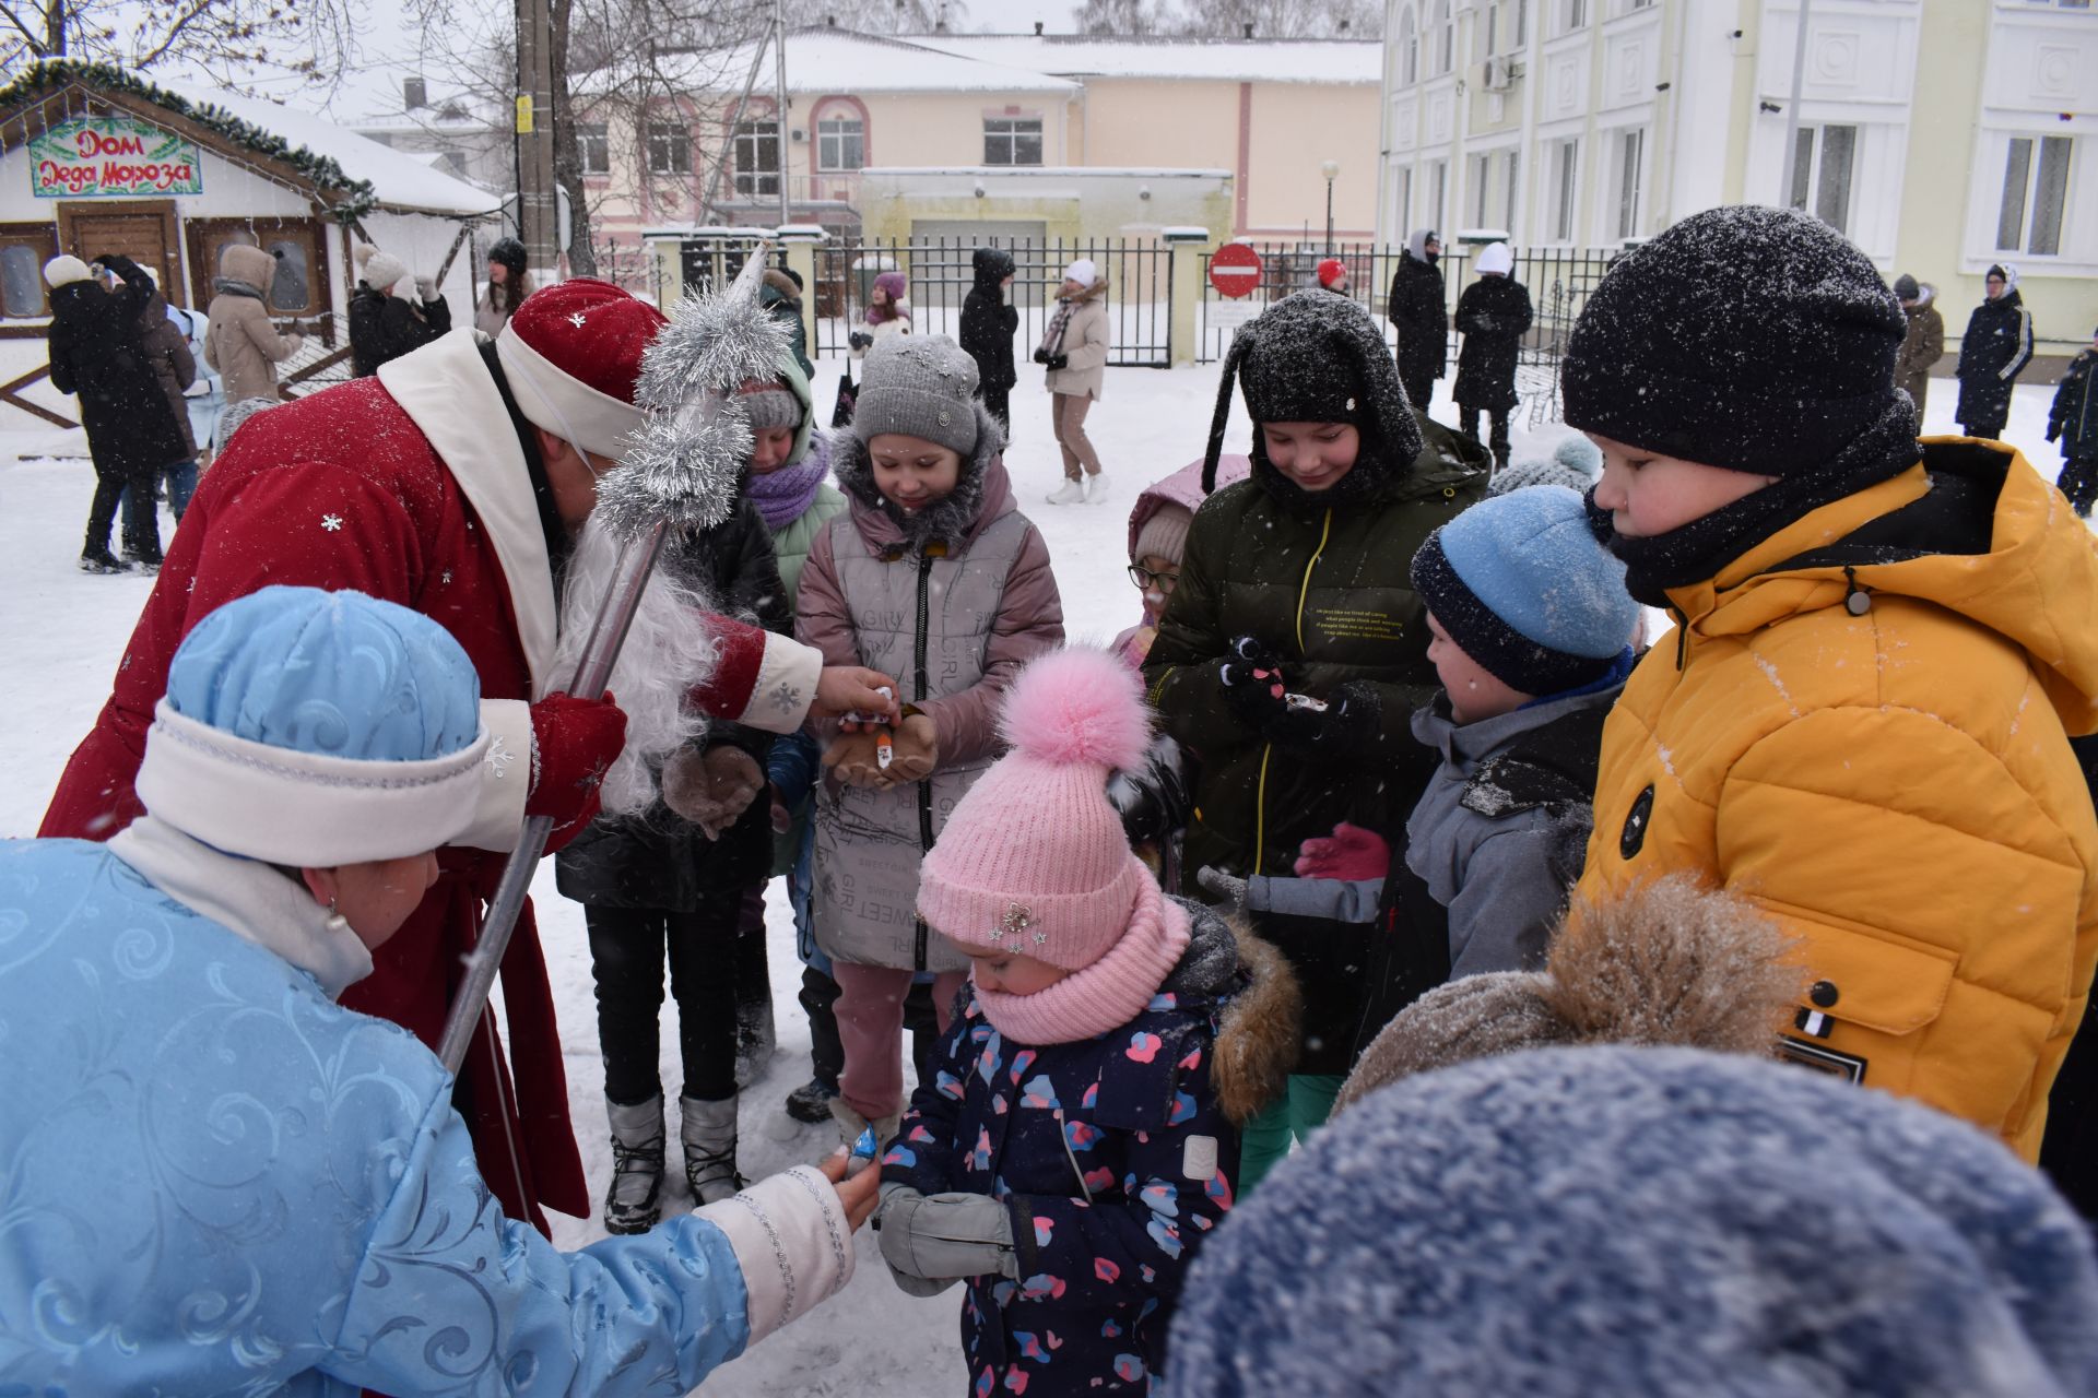
[[[1332,82],[1376,86],[1376,40],[1208,40],[1097,34],[913,34],[902,42],[978,63],[1055,78],[1164,78],[1190,82]],[[789,82],[793,78],[789,48]]]

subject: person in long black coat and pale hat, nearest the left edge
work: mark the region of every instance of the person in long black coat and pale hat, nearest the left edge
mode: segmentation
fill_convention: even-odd
[[[153,277],[130,258],[105,254],[101,266],[122,281],[103,289],[88,264],[59,256],[44,264],[50,283],[50,386],[80,394],[80,423],[94,461],[94,503],[80,549],[84,572],[159,568],[159,518],[153,495],[162,467],[185,455],[183,423],[147,363],[138,321],[155,296]],[[130,486],[130,490],[126,490]],[[124,503],[124,562],[109,553],[109,526]]]

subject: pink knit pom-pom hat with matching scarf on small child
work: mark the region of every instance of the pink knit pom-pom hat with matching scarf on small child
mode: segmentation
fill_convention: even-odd
[[[1051,652],[1013,679],[999,731],[1013,750],[925,855],[919,916],[967,954],[1078,973],[1018,1000],[1085,996],[1120,1014],[1101,1029],[1127,1023],[1187,947],[1187,918],[1162,905],[1108,803],[1108,776],[1143,761],[1150,740],[1143,681],[1106,650]]]

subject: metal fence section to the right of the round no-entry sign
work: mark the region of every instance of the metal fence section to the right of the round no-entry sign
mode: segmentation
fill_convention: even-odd
[[[1196,316],[1196,361],[1215,363],[1232,344],[1232,333],[1246,316],[1246,306],[1257,314],[1261,306],[1292,291],[1318,285],[1318,264],[1326,256],[1341,258],[1349,272],[1349,296],[1383,327],[1385,344],[1397,348],[1397,331],[1385,316],[1391,298],[1391,277],[1399,270],[1399,247],[1376,247],[1372,243],[1339,243],[1326,252],[1324,243],[1253,243],[1261,254],[1261,281],[1240,300],[1217,293],[1208,283],[1211,254],[1202,254],[1202,308]],[[1452,247],[1441,258],[1448,308],[1456,308],[1456,298],[1471,285],[1473,247]],[[1540,247],[1515,256],[1515,279],[1529,289],[1529,304],[1536,323],[1523,342],[1515,369],[1515,388],[1529,413],[1532,425],[1559,417],[1559,356],[1565,352],[1567,333],[1574,319],[1588,302],[1588,291],[1603,281],[1618,249],[1592,247]],[[1456,361],[1456,335],[1452,331],[1450,358]]]

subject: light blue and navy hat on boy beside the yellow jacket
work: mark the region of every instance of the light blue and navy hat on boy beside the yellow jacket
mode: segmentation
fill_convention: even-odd
[[[1412,576],[1450,639],[1523,694],[1594,681],[1639,620],[1624,564],[1597,543],[1567,486],[1479,501],[1429,534]]]

